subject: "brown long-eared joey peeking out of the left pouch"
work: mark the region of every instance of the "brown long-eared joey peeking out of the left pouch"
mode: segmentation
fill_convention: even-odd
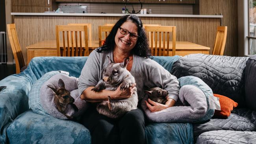
[[[54,103],[56,104],[58,110],[63,113],[65,116],[67,116],[67,118],[69,119],[73,119],[72,116],[68,116],[67,114],[65,114],[65,109],[67,108],[67,105],[70,104],[74,110],[77,112],[78,108],[76,107],[76,105],[74,104],[75,99],[70,96],[70,92],[69,90],[65,89],[65,83],[62,79],[59,79],[59,89],[50,87],[49,85],[47,85],[47,87],[49,87],[50,89],[53,90],[53,92],[55,93],[55,97],[54,97]]]

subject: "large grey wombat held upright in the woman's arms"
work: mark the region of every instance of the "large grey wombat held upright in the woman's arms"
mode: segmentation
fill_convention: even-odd
[[[108,65],[103,69],[102,79],[91,90],[98,92],[102,89],[116,90],[119,85],[121,90],[128,89],[135,83],[132,74],[126,69],[129,63],[129,57],[125,58],[122,63],[113,63],[108,57]],[[108,116],[109,118],[119,118],[128,111],[137,108],[138,95],[135,87],[134,93],[130,98],[122,100],[111,100],[108,96],[108,101],[101,102],[97,105],[98,113]]]

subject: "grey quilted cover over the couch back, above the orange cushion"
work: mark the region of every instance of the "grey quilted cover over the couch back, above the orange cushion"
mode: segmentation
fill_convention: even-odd
[[[196,76],[202,79],[214,94],[227,96],[244,106],[244,69],[249,57],[229,57],[221,55],[190,54],[176,61],[171,74]]]

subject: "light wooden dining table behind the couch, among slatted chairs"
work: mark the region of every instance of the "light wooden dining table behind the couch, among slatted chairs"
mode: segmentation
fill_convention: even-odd
[[[172,42],[170,42],[171,44]],[[61,42],[60,42],[61,44]],[[60,45],[61,46],[61,45]],[[83,47],[83,45],[82,45]],[[89,53],[99,47],[99,41],[88,41]],[[172,47],[172,46],[171,46]],[[27,65],[33,57],[41,56],[57,56],[56,40],[41,41],[35,44],[26,46]],[[176,41],[176,55],[184,56],[187,54],[209,54],[210,48],[195,44],[188,41]],[[169,56],[172,53],[169,53]]]

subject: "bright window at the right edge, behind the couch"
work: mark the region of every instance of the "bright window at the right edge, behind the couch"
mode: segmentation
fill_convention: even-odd
[[[256,54],[256,0],[249,0],[249,33],[247,38],[249,40],[249,50],[247,54]]]

